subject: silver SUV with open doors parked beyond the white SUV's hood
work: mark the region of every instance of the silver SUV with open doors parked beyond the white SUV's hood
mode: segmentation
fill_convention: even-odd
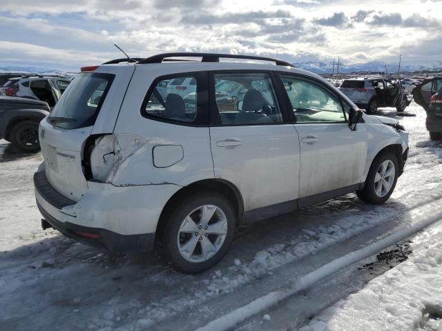
[[[413,99],[398,81],[384,77],[345,79],[339,89],[368,114],[374,114],[379,107],[396,107],[403,112]]]

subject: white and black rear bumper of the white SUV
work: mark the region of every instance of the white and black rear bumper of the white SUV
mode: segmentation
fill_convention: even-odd
[[[164,204],[179,188],[172,184],[117,187],[88,182],[84,197],[73,201],[52,188],[44,163],[35,172],[34,185],[37,206],[53,228],[90,245],[139,252],[153,249]]]

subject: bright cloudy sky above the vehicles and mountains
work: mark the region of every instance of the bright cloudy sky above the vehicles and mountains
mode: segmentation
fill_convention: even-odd
[[[78,70],[167,51],[291,62],[442,60],[442,0],[0,0],[0,67]]]

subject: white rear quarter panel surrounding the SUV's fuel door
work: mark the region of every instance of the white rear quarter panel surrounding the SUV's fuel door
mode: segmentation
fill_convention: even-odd
[[[143,117],[141,106],[148,88],[156,77],[166,72],[164,65],[136,67],[122,103],[124,114],[119,114],[114,133],[135,134],[146,142],[119,166],[113,185],[173,183],[186,186],[202,179],[213,179],[209,128]],[[177,72],[173,66],[169,70]],[[182,159],[169,167],[155,167],[153,148],[171,145],[182,146]]]

